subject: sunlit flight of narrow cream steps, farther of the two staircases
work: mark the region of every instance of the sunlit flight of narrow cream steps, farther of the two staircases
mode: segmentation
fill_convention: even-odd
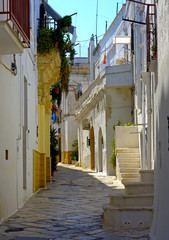
[[[140,174],[139,148],[116,149],[116,176],[122,183],[139,182]]]

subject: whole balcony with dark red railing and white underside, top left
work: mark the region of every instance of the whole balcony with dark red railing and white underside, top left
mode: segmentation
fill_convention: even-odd
[[[0,54],[30,47],[29,0],[0,0]]]

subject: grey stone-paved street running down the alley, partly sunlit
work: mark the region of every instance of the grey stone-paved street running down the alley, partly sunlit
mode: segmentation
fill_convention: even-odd
[[[113,177],[59,164],[52,184],[0,226],[0,239],[149,239],[146,231],[112,232],[102,225],[102,206],[113,191],[124,191]]]

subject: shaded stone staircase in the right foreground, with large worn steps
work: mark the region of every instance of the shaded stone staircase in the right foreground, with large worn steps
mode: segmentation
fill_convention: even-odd
[[[103,223],[113,230],[149,228],[153,216],[154,172],[140,171],[140,182],[125,182],[123,194],[110,195]]]

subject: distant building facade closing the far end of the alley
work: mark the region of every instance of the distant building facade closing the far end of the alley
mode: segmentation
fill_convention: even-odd
[[[72,144],[78,139],[77,123],[75,121],[75,103],[89,86],[88,58],[75,58],[71,67],[69,92],[62,95],[62,124],[61,124],[61,161],[71,163]]]

